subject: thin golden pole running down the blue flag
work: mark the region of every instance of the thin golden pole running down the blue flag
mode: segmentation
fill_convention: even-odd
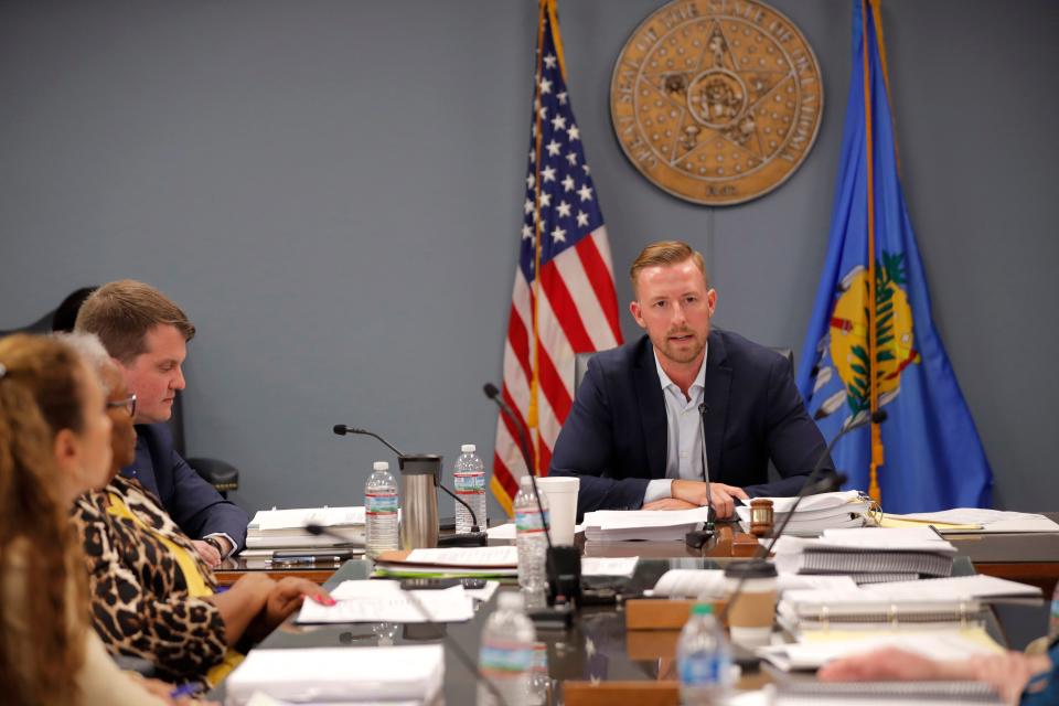
[[[875,289],[875,173],[871,163],[874,145],[871,140],[871,77],[870,62],[868,61],[868,11],[871,9],[871,0],[862,0],[860,4],[860,41],[864,46],[862,53],[864,63],[864,145],[867,152],[865,168],[867,169],[868,181],[868,403],[871,414],[879,408],[878,394],[878,332],[875,330],[876,323],[876,289]],[[868,495],[877,503],[882,502],[879,491],[879,467],[882,466],[882,434],[878,424],[871,424],[871,464],[868,480]]]

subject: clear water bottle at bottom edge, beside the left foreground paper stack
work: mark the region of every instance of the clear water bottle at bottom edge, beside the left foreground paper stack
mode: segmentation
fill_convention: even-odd
[[[507,706],[528,706],[530,670],[537,631],[523,612],[522,595],[502,591],[496,611],[485,621],[478,666]],[[484,683],[478,685],[478,706],[499,706]]]

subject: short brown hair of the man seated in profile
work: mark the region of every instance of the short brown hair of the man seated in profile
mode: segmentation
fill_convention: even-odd
[[[95,333],[110,355],[128,365],[147,351],[147,332],[159,324],[175,327],[185,342],[195,338],[195,327],[169,297],[150,285],[121,279],[85,300],[74,328]]]

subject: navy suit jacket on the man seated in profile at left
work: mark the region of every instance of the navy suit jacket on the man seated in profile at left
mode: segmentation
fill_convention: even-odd
[[[164,424],[136,425],[136,462],[121,469],[159,496],[162,506],[192,539],[224,533],[246,546],[250,518],[228,502],[173,449],[173,437]]]

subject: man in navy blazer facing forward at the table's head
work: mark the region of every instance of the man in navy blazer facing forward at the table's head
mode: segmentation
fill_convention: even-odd
[[[790,362],[710,330],[717,292],[687,244],[649,245],[630,277],[646,335],[592,356],[552,457],[550,474],[581,480],[578,515],[706,505],[707,470],[719,518],[737,499],[796,494],[826,445]],[[782,477],[772,483],[770,459]]]

